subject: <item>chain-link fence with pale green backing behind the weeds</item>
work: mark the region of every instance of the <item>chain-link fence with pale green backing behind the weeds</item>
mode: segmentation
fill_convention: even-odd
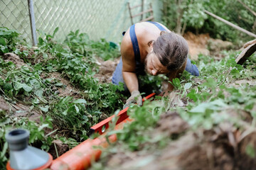
[[[127,3],[131,6],[141,4],[136,0],[33,0],[37,38],[40,32],[53,33],[59,28],[55,38],[63,40],[70,31],[80,30],[92,40],[105,38],[113,42],[122,40],[122,31],[131,26]],[[144,9],[152,3],[155,21],[159,20],[159,1],[144,0]],[[0,0],[1,27],[17,30],[23,38],[32,42],[28,1]],[[141,8],[135,9],[139,13]],[[137,20],[136,20],[137,19]],[[135,18],[135,22],[139,21]]]

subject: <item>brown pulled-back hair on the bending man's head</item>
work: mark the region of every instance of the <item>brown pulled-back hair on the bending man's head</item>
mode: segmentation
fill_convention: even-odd
[[[159,38],[154,41],[153,51],[161,64],[169,71],[174,71],[186,62],[188,56],[188,42],[176,33],[161,32]]]

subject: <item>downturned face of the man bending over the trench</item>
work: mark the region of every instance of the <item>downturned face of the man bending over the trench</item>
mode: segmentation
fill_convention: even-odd
[[[169,73],[168,69],[164,67],[163,64],[159,61],[159,58],[156,54],[151,51],[148,55],[146,55],[145,59],[145,72],[156,76],[158,74],[167,74]]]

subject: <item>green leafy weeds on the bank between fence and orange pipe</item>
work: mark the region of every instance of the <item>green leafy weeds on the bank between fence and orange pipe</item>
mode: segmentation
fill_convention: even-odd
[[[121,108],[122,86],[100,84],[94,78],[98,72],[96,58],[119,57],[118,49],[104,39],[90,40],[86,33],[70,32],[60,42],[53,35],[41,32],[38,47],[31,48],[15,30],[0,28],[0,99],[10,108],[0,111],[0,169],[4,169],[8,147],[4,135],[13,128],[30,130],[30,145],[48,151],[53,140],[61,140],[69,147],[88,138],[92,125],[102,114],[110,116]],[[6,52],[17,55],[23,62],[6,60]],[[65,85],[51,77],[54,72],[68,79],[78,89],[77,96],[59,96]],[[28,106],[26,117],[16,117],[17,104]],[[29,116],[41,113],[37,121]],[[46,134],[46,132],[48,132]]]

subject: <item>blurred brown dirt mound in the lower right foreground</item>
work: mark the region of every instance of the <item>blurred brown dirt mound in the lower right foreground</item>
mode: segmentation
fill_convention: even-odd
[[[249,128],[251,116],[230,109],[223,113],[238,118],[243,129],[225,121],[211,130],[198,129],[195,132],[178,113],[166,113],[161,115],[151,132],[153,137],[161,134],[165,139],[172,139],[164,149],[129,152],[120,147],[105,156],[105,166],[109,169],[145,170],[256,169],[256,160],[247,153],[248,146],[252,148],[252,154],[256,153],[256,129]]]

